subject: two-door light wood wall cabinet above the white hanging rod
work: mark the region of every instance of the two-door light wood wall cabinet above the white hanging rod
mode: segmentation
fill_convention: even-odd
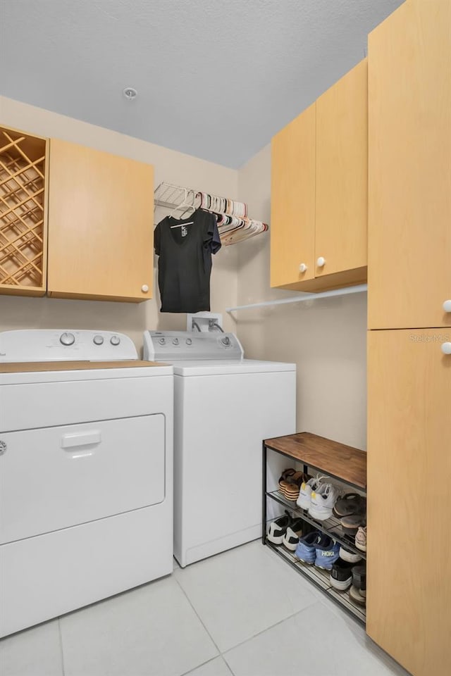
[[[366,281],[366,59],[272,139],[271,286]]]

